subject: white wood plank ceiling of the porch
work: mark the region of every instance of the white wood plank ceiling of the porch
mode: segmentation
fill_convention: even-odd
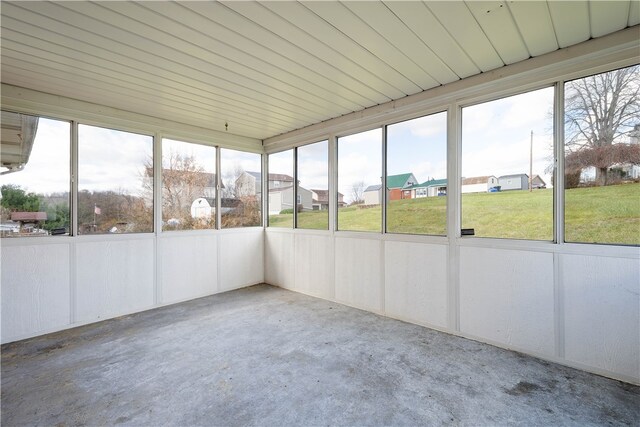
[[[638,1],[0,7],[3,83],[259,139],[640,22]]]

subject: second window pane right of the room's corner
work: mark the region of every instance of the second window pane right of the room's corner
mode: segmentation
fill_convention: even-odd
[[[298,147],[298,228],[329,229],[328,156],[328,141]]]

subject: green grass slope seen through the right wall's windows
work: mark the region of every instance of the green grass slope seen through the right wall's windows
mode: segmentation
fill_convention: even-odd
[[[565,193],[568,242],[640,244],[640,184],[574,188]],[[355,206],[338,211],[338,229],[380,231],[381,208]],[[269,225],[291,227],[293,215],[271,215]],[[326,211],[298,215],[300,228],[326,230]],[[462,227],[476,236],[553,239],[553,190],[471,193],[462,197]],[[389,233],[446,234],[446,197],[389,203]]]

